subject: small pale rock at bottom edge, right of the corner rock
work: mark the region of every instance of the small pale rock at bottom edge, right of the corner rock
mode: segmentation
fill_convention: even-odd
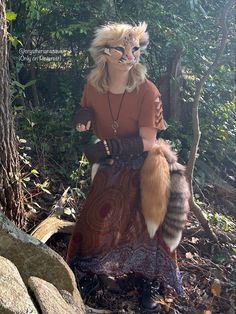
[[[43,314],[81,313],[66,303],[57,288],[51,283],[37,277],[30,277],[28,284],[33,290]]]

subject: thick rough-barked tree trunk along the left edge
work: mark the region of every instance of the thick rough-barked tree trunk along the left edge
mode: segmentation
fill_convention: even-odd
[[[16,135],[10,112],[5,0],[0,0],[0,210],[23,226],[23,192]]]

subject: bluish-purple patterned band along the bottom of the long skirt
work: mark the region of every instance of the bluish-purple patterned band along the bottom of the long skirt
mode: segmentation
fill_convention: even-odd
[[[80,277],[87,272],[113,277],[136,273],[150,280],[157,279],[165,287],[171,287],[178,294],[183,294],[179,269],[160,247],[139,246],[134,249],[124,246],[113,249],[104,256],[77,258],[76,265]]]

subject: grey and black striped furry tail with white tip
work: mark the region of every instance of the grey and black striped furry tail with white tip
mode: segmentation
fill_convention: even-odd
[[[171,184],[167,213],[162,225],[163,239],[170,251],[179,245],[189,212],[190,190],[185,167],[175,162],[170,166]]]

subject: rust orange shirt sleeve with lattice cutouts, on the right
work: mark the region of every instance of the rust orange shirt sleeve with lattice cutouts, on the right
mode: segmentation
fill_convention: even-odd
[[[150,81],[141,99],[138,125],[139,127],[154,127],[158,130],[165,130],[161,94]]]

